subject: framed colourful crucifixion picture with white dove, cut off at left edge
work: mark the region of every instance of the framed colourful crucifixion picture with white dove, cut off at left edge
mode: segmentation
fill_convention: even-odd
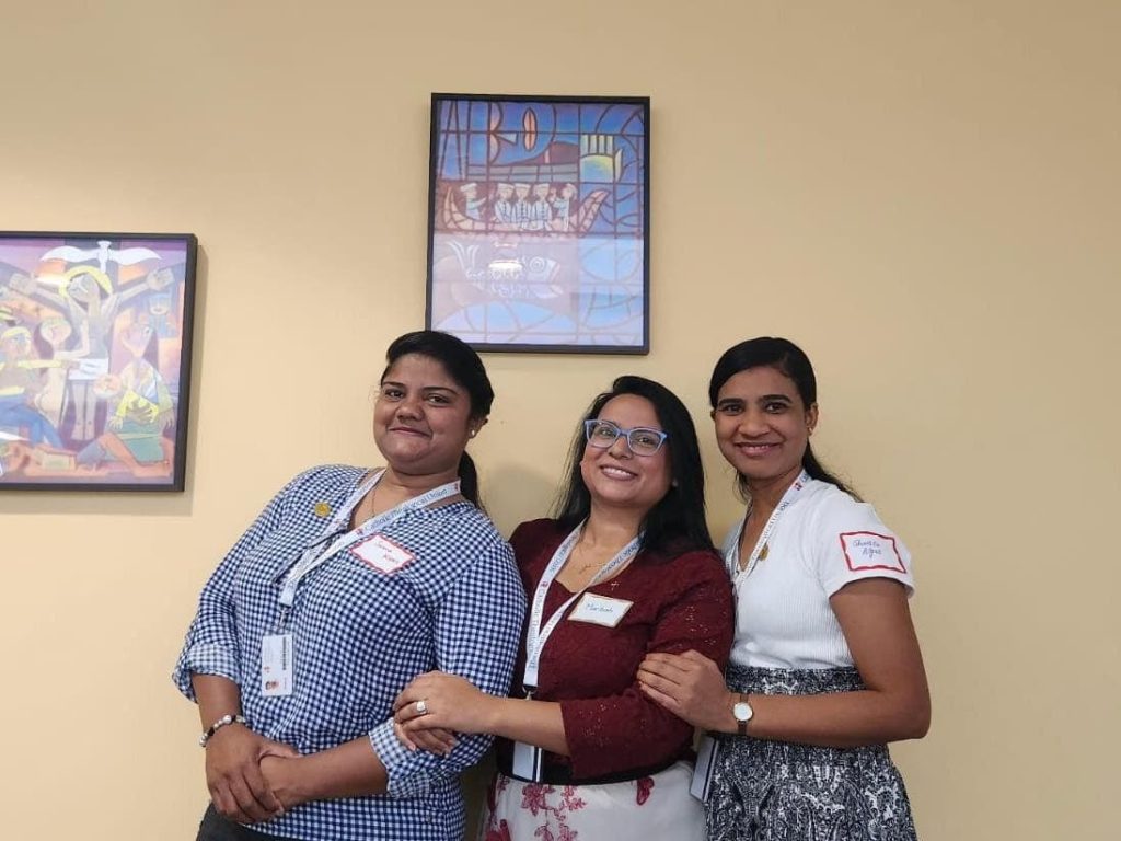
[[[195,253],[0,233],[0,490],[183,490]]]

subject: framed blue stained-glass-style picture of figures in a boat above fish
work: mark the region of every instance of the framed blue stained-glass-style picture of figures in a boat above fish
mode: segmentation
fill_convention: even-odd
[[[426,323],[478,350],[647,353],[650,100],[434,93]]]

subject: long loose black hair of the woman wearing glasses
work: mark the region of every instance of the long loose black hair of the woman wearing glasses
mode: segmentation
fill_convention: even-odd
[[[704,516],[704,465],[693,418],[677,395],[645,377],[618,378],[611,383],[611,390],[597,396],[581,417],[568,455],[567,480],[557,496],[554,516],[564,528],[573,529],[591,514],[592,495],[580,470],[586,446],[584,420],[599,417],[608,400],[620,395],[649,400],[667,436],[663,446],[669,453],[670,486],[666,496],[646,515],[641,549],[660,555],[712,549]]]

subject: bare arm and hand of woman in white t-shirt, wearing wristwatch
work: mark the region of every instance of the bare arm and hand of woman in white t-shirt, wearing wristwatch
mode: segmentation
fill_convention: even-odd
[[[830,604],[868,688],[823,695],[748,696],[747,732],[760,739],[851,748],[918,739],[930,724],[923,656],[904,586],[888,579],[846,584]],[[643,691],[705,730],[735,733],[729,692],[715,664],[654,654],[639,672]]]

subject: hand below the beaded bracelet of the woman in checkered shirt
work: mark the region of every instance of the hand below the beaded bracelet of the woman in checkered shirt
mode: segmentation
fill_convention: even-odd
[[[299,752],[241,724],[215,732],[206,742],[206,787],[214,808],[238,823],[258,823],[281,814],[286,804],[261,774],[261,759],[267,756],[297,757]]]

